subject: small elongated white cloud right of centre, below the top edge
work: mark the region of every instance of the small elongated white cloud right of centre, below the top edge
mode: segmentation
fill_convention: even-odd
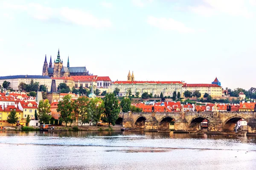
[[[157,18],[157,17],[148,17],[148,24],[151,26],[163,29],[163,30],[173,30],[180,33],[191,33],[194,32],[192,28],[186,27],[183,23],[176,21],[172,18]]]

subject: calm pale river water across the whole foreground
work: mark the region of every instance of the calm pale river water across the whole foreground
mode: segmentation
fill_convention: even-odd
[[[0,131],[0,170],[256,170],[256,137]]]

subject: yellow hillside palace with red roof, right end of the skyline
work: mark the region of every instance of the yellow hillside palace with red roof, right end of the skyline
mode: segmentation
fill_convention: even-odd
[[[212,97],[222,96],[222,88],[216,84],[184,84],[182,86],[182,96],[184,96],[185,91],[190,91],[192,93],[194,91],[199,91],[201,97],[203,97],[205,93]]]

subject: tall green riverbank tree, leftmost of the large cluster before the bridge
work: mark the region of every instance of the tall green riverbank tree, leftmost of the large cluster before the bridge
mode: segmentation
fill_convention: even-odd
[[[67,126],[67,122],[72,121],[71,114],[73,112],[73,105],[71,104],[71,96],[66,95],[63,97],[62,101],[59,101],[57,112],[60,113],[60,118],[62,122],[64,121]]]

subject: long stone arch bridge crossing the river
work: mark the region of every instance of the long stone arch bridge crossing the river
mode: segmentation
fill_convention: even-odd
[[[161,130],[174,125],[176,132],[195,132],[200,130],[201,122],[207,119],[208,132],[233,132],[236,122],[247,122],[247,134],[256,135],[256,112],[156,112],[120,113],[117,124],[125,128],[141,130]]]

